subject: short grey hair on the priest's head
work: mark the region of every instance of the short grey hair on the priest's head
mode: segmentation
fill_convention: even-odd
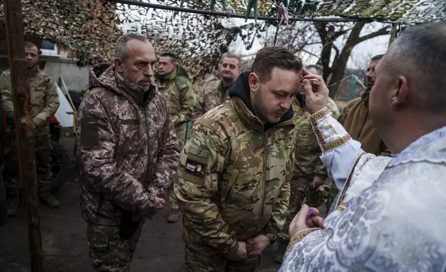
[[[386,55],[389,79],[404,76],[414,88],[417,107],[432,114],[446,111],[446,23],[411,26]]]

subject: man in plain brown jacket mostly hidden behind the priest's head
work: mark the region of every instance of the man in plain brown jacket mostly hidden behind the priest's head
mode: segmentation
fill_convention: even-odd
[[[341,112],[339,123],[344,126],[353,139],[361,143],[361,148],[367,153],[390,156],[380,135],[378,135],[368,112],[368,96],[375,85],[375,67],[384,55],[377,55],[368,62],[366,74],[366,90],[361,97],[348,102]]]

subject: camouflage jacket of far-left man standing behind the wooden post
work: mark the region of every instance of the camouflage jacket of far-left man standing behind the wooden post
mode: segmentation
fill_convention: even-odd
[[[10,71],[6,70],[0,75],[1,99],[3,102],[3,113],[8,119],[8,126],[15,127],[14,124],[14,104],[11,96]],[[50,133],[50,118],[59,108],[59,95],[53,78],[45,74],[36,67],[29,74],[30,94],[31,94],[31,114],[36,125],[35,136],[48,135]]]

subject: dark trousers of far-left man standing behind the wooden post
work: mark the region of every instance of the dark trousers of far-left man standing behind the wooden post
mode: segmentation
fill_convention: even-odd
[[[19,154],[17,153],[17,141],[14,136],[8,135],[7,139],[6,169],[3,173],[8,198],[19,194]],[[39,193],[48,192],[51,182],[51,139],[49,135],[36,136],[34,138],[35,164],[37,172],[37,185]]]

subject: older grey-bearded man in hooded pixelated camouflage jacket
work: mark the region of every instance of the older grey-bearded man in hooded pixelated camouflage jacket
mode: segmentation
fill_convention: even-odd
[[[177,171],[170,106],[152,84],[155,62],[146,37],[124,35],[114,65],[91,67],[79,106],[80,207],[96,271],[130,271],[144,218],[162,207]]]

